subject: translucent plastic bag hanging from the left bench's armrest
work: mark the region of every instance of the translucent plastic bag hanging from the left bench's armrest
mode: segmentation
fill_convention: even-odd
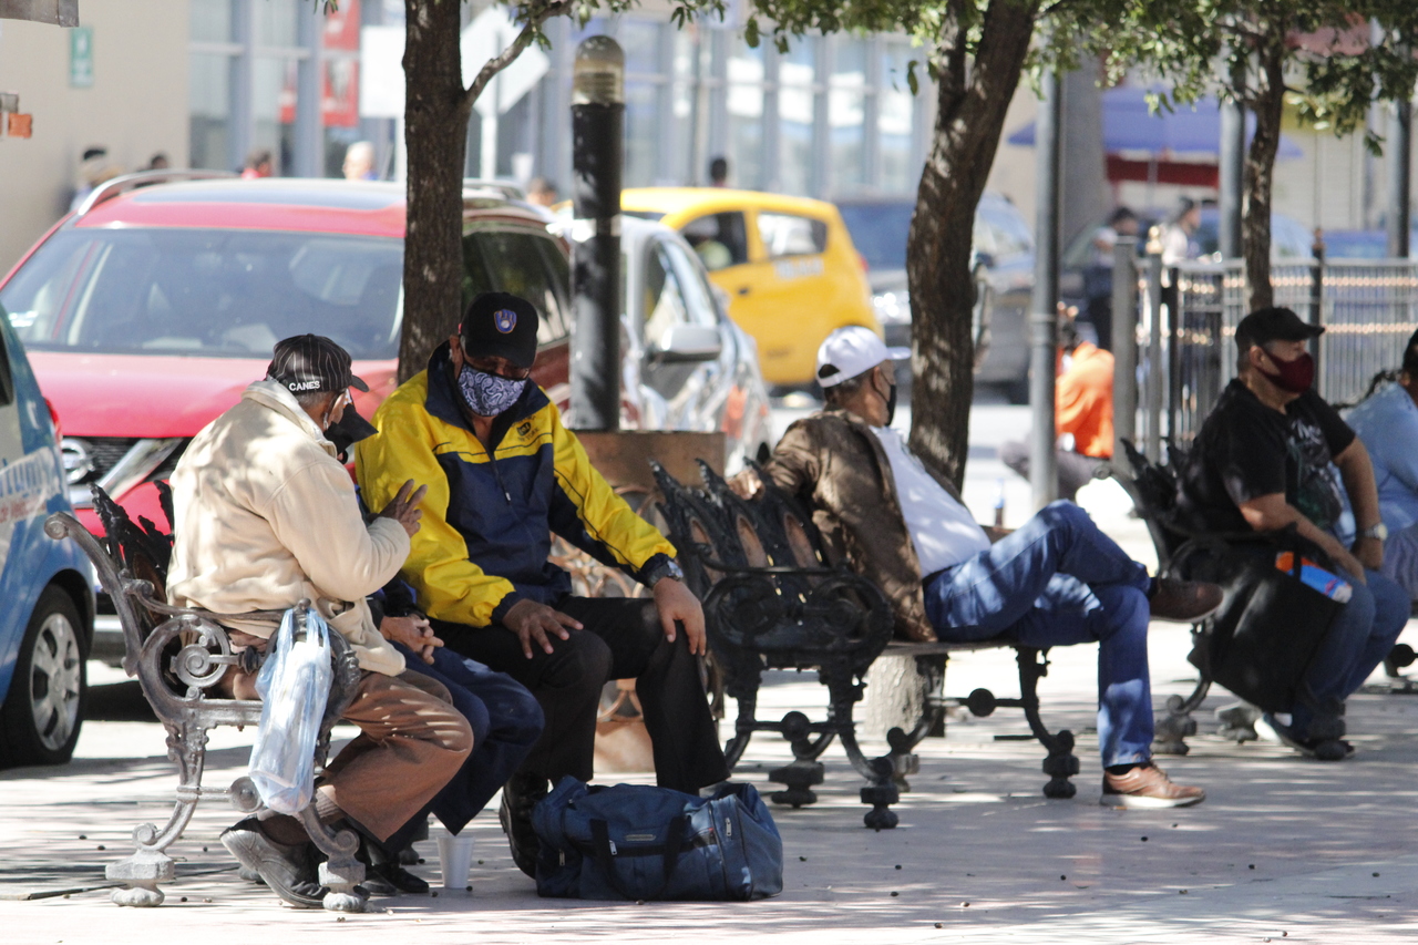
[[[292,607],[272,643],[257,675],[261,725],[250,773],[267,807],[294,814],[315,795],[315,742],[333,675],[330,629],[313,609]]]

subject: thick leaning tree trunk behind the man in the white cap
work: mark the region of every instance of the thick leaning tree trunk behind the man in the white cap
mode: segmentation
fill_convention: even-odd
[[[964,14],[971,1],[951,0],[933,54],[939,74],[936,126],[906,241],[910,446],[957,485],[964,480],[974,392],[974,214],[1038,13],[1038,0],[991,0],[967,70]]]

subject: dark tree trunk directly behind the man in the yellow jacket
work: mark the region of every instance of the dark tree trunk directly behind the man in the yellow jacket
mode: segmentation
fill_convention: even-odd
[[[471,111],[458,50],[461,6],[461,0],[404,0],[408,231],[400,383],[424,369],[461,314],[462,169]]]

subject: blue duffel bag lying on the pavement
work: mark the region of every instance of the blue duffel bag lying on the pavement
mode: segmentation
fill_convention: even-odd
[[[562,782],[532,810],[537,895],[756,900],[783,891],[783,839],[752,785],[712,797]]]

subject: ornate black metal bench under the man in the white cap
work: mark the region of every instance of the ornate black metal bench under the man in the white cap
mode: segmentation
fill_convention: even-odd
[[[1008,639],[893,643],[891,607],[881,590],[845,565],[828,563],[811,516],[791,497],[767,485],[761,497],[744,501],[703,463],[703,488],[686,488],[661,465],[651,465],[685,578],[705,602],[710,650],[727,694],[739,704],[735,734],[725,746],[729,763],[739,762],[754,732],[778,732],[793,748],[794,761],[769,773],[770,780],[786,785],[773,795],[776,803],[801,807],[815,802],[813,786],[822,782],[824,773],[818,759],[839,739],[868,782],[861,789],[862,803],[872,807],[864,817],[866,826],[895,827],[898,817],[891,805],[900,800],[900,790],[909,790],[906,778],[919,770],[913,749],[939,729],[947,708],[961,702],[976,715],[1000,707],[1022,709],[1034,736],[1048,749],[1044,795],[1073,796],[1073,734],[1049,732],[1039,718],[1037,685],[1048,673],[1046,651]],[[944,698],[951,653],[998,647],[1012,647],[1018,654],[1020,698],[995,698],[983,688],[966,700]],[[856,741],[852,707],[862,698],[866,671],[886,651],[915,658],[926,681],[926,698],[910,731],[892,728],[886,735],[889,751],[868,758]],[[811,721],[803,712],[788,712],[777,722],[760,721],[757,695],[764,670],[817,670],[827,687],[827,718]]]

